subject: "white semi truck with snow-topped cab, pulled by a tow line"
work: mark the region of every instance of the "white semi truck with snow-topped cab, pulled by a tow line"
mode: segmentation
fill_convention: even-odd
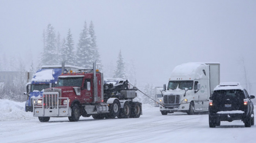
[[[159,105],[162,115],[176,111],[208,111],[208,103],[214,88],[220,83],[220,63],[190,62],[176,66],[166,85],[163,87],[163,106]]]

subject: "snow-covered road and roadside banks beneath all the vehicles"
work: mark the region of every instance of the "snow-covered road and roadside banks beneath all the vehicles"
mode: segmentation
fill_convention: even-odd
[[[209,128],[208,115],[187,115],[176,112],[161,115],[157,107],[143,106],[143,115],[131,119],[102,119],[80,117],[69,122],[68,117],[51,118],[41,123],[25,103],[0,100],[1,143],[255,143],[256,125],[245,128],[242,121],[222,121],[221,126]]]

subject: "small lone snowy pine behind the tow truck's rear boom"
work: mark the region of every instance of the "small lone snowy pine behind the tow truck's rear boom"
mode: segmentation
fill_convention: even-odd
[[[114,71],[113,77],[114,78],[123,78],[124,80],[127,79],[127,75],[125,72],[125,62],[123,60],[121,50],[118,54],[116,63],[117,63],[117,66],[116,66],[116,70]]]

